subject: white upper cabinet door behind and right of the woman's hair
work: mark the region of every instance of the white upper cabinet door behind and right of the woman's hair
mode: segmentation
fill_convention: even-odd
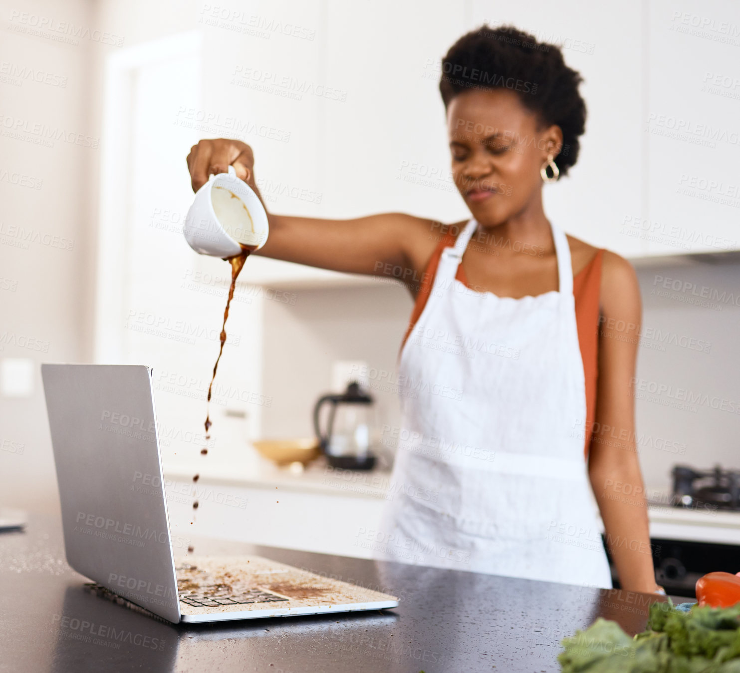
[[[643,208],[642,3],[565,0],[492,3],[474,0],[470,27],[514,24],[538,41],[562,48],[582,78],[586,130],[578,162],[556,184],[545,185],[545,212],[569,234],[621,255],[645,254],[629,222]]]

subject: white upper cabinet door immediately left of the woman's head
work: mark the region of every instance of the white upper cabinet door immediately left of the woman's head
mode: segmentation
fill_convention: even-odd
[[[408,212],[443,222],[467,213],[451,178],[440,63],[465,30],[443,0],[326,0],[323,101],[327,214]]]

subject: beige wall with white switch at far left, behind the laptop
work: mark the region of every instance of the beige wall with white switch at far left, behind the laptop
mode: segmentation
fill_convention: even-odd
[[[39,25],[44,21],[43,25]],[[60,25],[64,22],[64,25]],[[0,2],[0,503],[55,505],[38,364],[92,348],[92,63],[88,0]],[[115,47],[110,47],[115,48]]]

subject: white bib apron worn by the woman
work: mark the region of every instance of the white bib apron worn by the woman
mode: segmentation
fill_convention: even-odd
[[[551,227],[559,288],[536,297],[455,278],[474,219],[443,251],[400,356],[403,422],[384,438],[397,452],[375,558],[611,588],[583,455],[571,252]]]

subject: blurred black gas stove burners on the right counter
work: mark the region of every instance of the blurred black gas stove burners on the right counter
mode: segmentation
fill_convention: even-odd
[[[676,507],[723,509],[740,512],[740,470],[694,469],[676,465],[673,475],[673,498]]]

